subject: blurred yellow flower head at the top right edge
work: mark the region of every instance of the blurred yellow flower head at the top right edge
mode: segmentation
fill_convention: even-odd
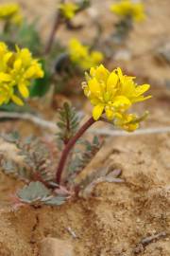
[[[135,21],[143,21],[145,18],[144,5],[131,0],[122,0],[120,3],[110,6],[110,10],[122,17],[131,17]]]

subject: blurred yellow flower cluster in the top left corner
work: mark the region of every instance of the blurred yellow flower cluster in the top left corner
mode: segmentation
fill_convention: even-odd
[[[0,5],[0,20],[11,24],[19,25],[23,16],[18,4],[2,4]]]

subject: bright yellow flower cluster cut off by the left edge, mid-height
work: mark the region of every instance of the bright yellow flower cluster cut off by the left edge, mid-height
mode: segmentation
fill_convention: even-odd
[[[31,80],[42,77],[41,64],[32,58],[27,48],[16,46],[14,52],[0,42],[0,105],[9,101],[23,105],[24,102],[17,95],[27,98]]]

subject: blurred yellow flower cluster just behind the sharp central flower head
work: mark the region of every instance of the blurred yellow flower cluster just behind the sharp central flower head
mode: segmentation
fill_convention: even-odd
[[[100,51],[91,51],[89,46],[81,45],[76,39],[70,41],[68,50],[71,61],[84,70],[91,68],[91,66],[96,66],[104,58]]]

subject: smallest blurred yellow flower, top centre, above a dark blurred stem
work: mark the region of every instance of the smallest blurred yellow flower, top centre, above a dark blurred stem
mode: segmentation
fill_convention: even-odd
[[[75,3],[63,3],[59,5],[61,14],[68,20],[75,17],[77,9],[79,9],[79,7]]]

